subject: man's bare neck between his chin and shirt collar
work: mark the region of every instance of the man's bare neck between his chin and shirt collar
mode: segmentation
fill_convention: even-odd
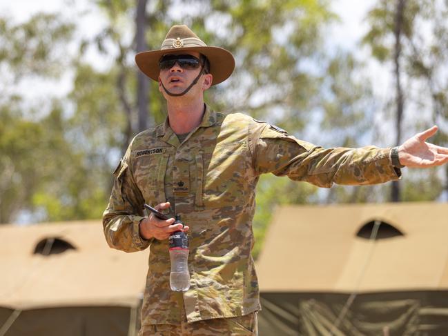
[[[168,119],[176,134],[186,134],[197,128],[204,115],[204,100],[171,99],[168,104]]]

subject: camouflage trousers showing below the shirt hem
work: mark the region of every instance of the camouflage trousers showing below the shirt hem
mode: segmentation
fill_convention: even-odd
[[[257,313],[226,319],[206,319],[179,325],[150,324],[142,326],[138,336],[257,336]]]

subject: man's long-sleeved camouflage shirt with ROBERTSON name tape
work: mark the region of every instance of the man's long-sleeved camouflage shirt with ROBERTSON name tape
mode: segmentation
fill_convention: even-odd
[[[399,178],[389,148],[324,149],[240,113],[206,108],[182,144],[168,119],[139,133],[114,172],[103,224],[113,248],[150,246],[142,325],[179,324],[182,313],[194,322],[260,310],[252,219],[255,186],[266,172],[326,188]],[[166,199],[170,215],[181,215],[190,227],[191,288],[185,293],[169,286],[168,239],[139,236],[144,202]]]

